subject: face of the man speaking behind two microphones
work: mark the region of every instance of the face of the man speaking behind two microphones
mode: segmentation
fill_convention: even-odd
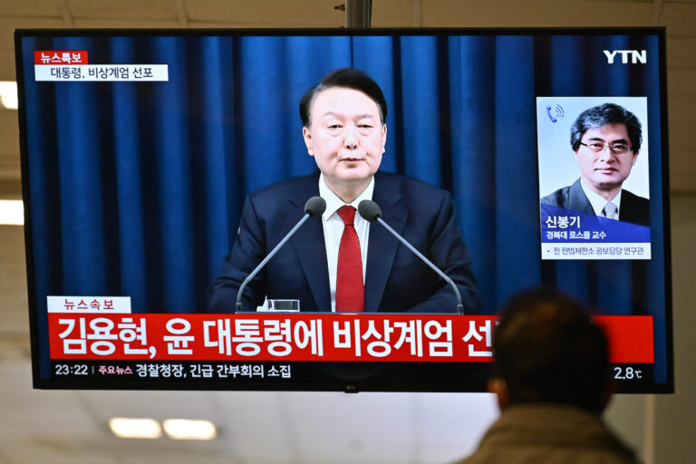
[[[377,104],[353,89],[332,87],[314,98],[304,143],[327,185],[369,181],[382,162],[387,126]]]

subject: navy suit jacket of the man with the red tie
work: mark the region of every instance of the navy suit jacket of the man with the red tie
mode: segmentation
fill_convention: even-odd
[[[235,311],[237,289],[304,216],[304,202],[319,195],[319,173],[289,179],[247,198],[239,237],[221,274],[208,287],[208,311]],[[478,312],[478,289],[469,253],[454,222],[448,192],[395,174],[375,174],[372,199],[382,218],[459,287],[464,310]],[[244,291],[243,308],[269,299],[299,299],[300,310],[331,311],[329,273],[321,218],[309,218]],[[426,264],[378,223],[370,226],[365,271],[366,312],[456,312],[456,298]]]

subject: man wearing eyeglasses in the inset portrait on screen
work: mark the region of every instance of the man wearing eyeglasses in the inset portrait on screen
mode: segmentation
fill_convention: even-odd
[[[649,226],[650,200],[621,188],[642,141],[641,121],[623,106],[604,103],[583,111],[570,129],[580,179],[541,203]]]

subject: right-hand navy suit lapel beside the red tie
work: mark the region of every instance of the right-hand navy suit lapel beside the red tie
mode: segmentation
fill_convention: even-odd
[[[391,176],[375,177],[374,200],[382,208],[382,219],[400,235],[406,226],[409,211],[401,198],[401,182]],[[376,221],[370,225],[365,271],[365,311],[376,312],[382,302],[384,288],[389,280],[399,240]]]

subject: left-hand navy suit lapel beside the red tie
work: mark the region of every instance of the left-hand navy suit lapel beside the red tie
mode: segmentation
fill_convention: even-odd
[[[304,202],[310,197],[319,195],[318,175],[305,178],[296,198],[288,198],[289,207],[284,212],[285,227],[290,230],[304,215]],[[304,180],[304,179],[303,179]],[[329,266],[326,263],[326,247],[324,245],[324,228],[321,218],[308,218],[302,227],[290,240],[297,253],[304,277],[309,284],[318,311],[331,311],[331,295],[329,291]],[[297,270],[299,272],[300,269]],[[302,310],[302,308],[300,308]]]

